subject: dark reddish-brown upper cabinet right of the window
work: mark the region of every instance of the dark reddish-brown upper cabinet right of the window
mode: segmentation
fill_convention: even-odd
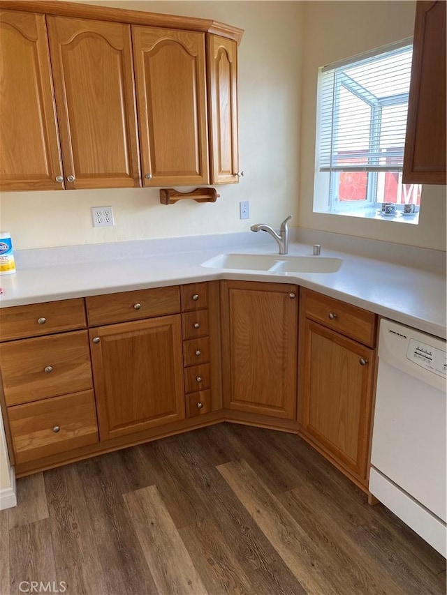
[[[404,183],[446,181],[446,1],[418,1]]]

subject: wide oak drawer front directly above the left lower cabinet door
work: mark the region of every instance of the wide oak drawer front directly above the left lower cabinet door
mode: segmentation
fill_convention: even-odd
[[[156,287],[85,299],[89,326],[128,322],[180,311],[179,286]]]

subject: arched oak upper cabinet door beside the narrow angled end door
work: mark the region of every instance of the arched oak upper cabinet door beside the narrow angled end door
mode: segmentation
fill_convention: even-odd
[[[132,27],[143,186],[208,183],[205,34]]]

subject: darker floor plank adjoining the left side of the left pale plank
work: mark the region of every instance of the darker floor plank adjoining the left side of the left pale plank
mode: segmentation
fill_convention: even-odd
[[[155,594],[152,574],[124,509],[119,475],[108,465],[107,455],[76,465],[94,534],[91,551],[104,569],[105,591],[135,595],[144,586],[145,594]]]

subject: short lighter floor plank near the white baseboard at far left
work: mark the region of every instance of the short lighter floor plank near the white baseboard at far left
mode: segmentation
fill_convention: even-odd
[[[47,496],[43,473],[17,479],[17,506],[9,509],[9,528],[48,518]]]

